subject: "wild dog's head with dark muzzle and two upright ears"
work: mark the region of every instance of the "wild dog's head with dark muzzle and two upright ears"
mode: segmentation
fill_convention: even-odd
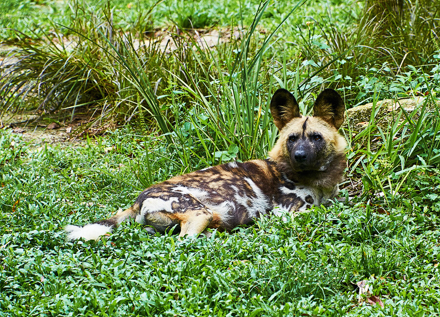
[[[313,116],[303,116],[295,97],[279,89],[272,96],[270,111],[280,132],[270,157],[292,172],[326,171],[344,153],[346,142],[338,129],[344,122],[345,105],[336,91],[322,91]]]

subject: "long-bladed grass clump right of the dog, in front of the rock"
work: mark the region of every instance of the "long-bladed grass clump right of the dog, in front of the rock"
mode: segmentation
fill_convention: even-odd
[[[426,84],[430,91],[439,91],[435,83]],[[348,158],[351,163],[348,175],[351,180],[359,178],[363,185],[357,184],[352,189],[365,195],[373,194],[370,199],[383,201],[389,211],[402,207],[413,210],[412,201],[426,198],[428,194],[429,186],[420,179],[438,174],[439,98],[430,93],[412,111],[405,110],[402,105],[389,113],[385,125],[376,122],[376,115],[383,106],[376,98],[373,97],[366,128],[355,136],[350,136],[349,130],[351,151]],[[431,188],[435,190],[435,186]]]

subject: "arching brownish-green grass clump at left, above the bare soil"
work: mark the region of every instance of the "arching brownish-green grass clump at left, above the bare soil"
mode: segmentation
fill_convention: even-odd
[[[144,45],[141,38],[135,49],[132,34],[115,32],[112,21],[106,19],[111,16],[109,7],[97,11],[78,6],[71,9],[76,10],[77,17],[71,27],[74,35],[68,38],[57,35],[44,43],[22,41],[3,61],[0,75],[3,112],[53,113],[72,109],[73,114],[78,107],[91,107],[99,109],[107,119],[118,113],[130,117],[136,107],[136,92],[114,59],[113,48],[122,55],[136,55],[146,74],[160,76],[163,68],[155,65],[168,60],[157,43]],[[131,49],[122,50],[121,45]]]

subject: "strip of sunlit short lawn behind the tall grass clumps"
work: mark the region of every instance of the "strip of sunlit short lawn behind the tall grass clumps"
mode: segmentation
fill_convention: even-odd
[[[247,26],[252,23],[260,2],[220,1],[213,6],[212,2],[207,0],[5,0],[0,3],[0,39],[16,39],[19,34],[13,29],[32,38],[45,36],[56,27],[54,22],[65,26],[74,23],[78,19],[78,7],[89,8],[91,11],[108,7],[111,9],[115,27],[125,31],[151,31],[154,27],[164,25],[177,25],[179,28],[225,27],[232,21]],[[296,2],[270,1],[261,26],[270,29],[279,24]],[[354,3],[352,0],[313,1],[305,6],[303,14],[307,16],[313,13],[317,15],[315,19],[320,19],[328,14],[330,7],[352,10],[350,6]],[[342,18],[337,15],[337,20]],[[302,23],[299,17],[293,17],[289,22],[293,25],[297,22]],[[63,28],[62,32],[68,33],[68,30]]]

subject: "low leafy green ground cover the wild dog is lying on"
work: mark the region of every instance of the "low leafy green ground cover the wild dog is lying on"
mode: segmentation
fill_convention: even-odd
[[[132,223],[97,243],[67,242],[67,224],[127,207],[182,169],[163,136],[127,128],[66,145],[1,130],[0,316],[440,314],[438,170],[411,174],[418,199],[389,214],[361,195],[210,239],[178,242]],[[357,304],[350,282],[362,279],[384,309]]]

